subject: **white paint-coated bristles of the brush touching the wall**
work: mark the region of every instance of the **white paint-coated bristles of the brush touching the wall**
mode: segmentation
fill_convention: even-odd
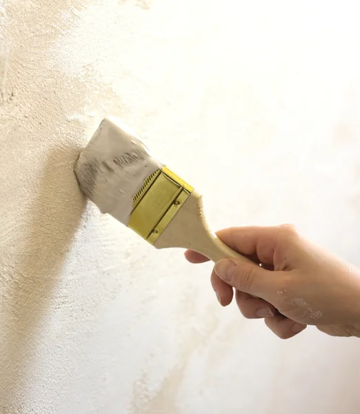
[[[81,151],[75,172],[81,190],[101,213],[109,213],[127,225],[132,197],[144,180],[160,168],[161,164],[150,156],[129,126],[108,117]]]

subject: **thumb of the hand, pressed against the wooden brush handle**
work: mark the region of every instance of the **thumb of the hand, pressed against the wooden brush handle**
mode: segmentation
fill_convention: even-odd
[[[241,292],[263,297],[268,296],[270,270],[258,264],[237,259],[221,259],[214,267],[215,273],[227,284]]]

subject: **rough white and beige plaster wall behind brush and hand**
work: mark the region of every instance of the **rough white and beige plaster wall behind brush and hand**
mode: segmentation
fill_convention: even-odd
[[[294,222],[360,265],[360,3],[0,5],[0,413],[359,413],[360,339],[220,308],[72,167],[120,116],[214,228]]]

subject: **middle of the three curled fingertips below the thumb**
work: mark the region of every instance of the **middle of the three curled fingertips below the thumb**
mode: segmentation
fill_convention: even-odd
[[[277,310],[263,299],[254,298],[248,293],[236,290],[235,299],[237,306],[244,317],[248,319],[259,319],[261,317],[272,317]]]

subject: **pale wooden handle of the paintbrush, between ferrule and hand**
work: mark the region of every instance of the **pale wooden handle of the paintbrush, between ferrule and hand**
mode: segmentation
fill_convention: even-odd
[[[190,248],[208,257],[212,262],[234,258],[250,262],[232,250],[208,228],[203,213],[202,197],[194,190],[154,243],[156,248]]]

